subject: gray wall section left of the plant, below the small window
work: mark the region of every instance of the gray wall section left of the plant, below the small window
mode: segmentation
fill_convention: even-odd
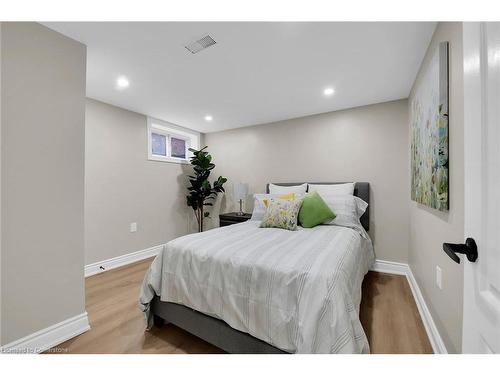
[[[188,233],[186,165],[147,160],[145,116],[88,99],[85,145],[85,264]]]

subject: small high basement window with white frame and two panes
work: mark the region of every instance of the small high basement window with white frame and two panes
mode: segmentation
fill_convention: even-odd
[[[165,121],[148,118],[148,160],[187,163],[199,149],[200,133]]]

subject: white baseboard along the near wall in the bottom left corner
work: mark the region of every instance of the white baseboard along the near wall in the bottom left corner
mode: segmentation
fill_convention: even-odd
[[[53,348],[90,329],[87,312],[56,323],[0,348],[0,353],[34,354]]]

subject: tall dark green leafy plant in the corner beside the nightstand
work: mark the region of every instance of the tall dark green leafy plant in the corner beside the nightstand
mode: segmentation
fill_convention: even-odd
[[[207,146],[201,150],[189,149],[193,153],[189,162],[193,166],[194,174],[189,176],[191,186],[188,187],[189,194],[186,196],[186,201],[187,205],[194,210],[198,232],[203,232],[203,219],[210,217],[205,207],[213,206],[217,194],[225,192],[224,183],[227,181],[227,178],[219,176],[212,185],[208,180],[215,164],[212,163],[212,155],[205,151],[206,148]]]

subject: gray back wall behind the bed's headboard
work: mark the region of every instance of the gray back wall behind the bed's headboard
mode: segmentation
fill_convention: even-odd
[[[407,262],[408,103],[406,100],[205,135],[215,175],[247,182],[368,181],[370,235],[377,258]],[[222,210],[235,208],[231,184]],[[252,200],[247,199],[251,212]]]

